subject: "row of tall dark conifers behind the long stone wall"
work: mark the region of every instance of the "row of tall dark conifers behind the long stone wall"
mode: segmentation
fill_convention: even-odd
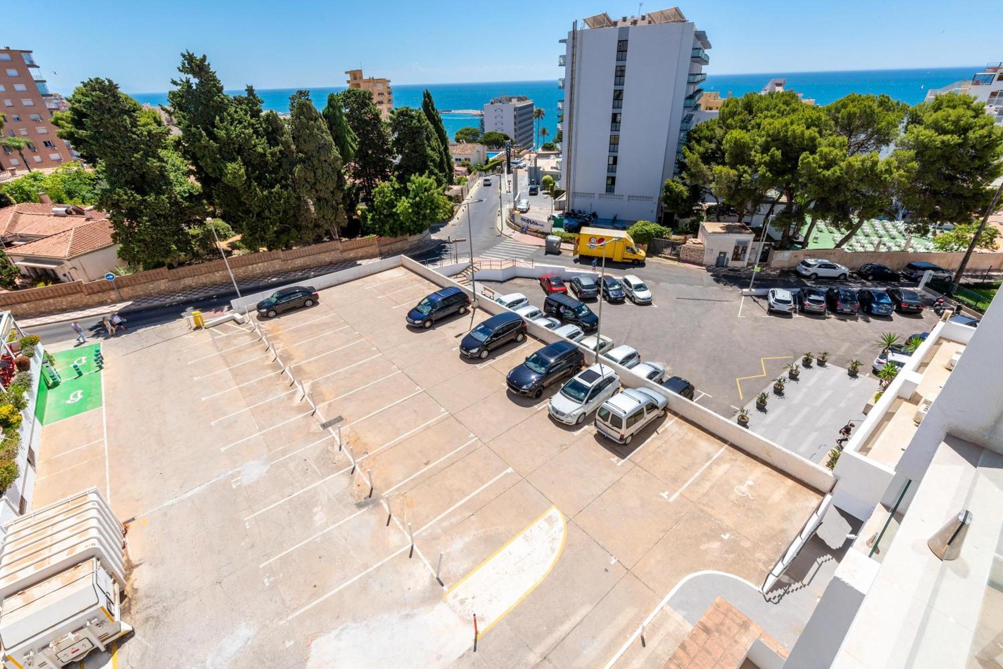
[[[225,219],[244,246],[273,249],[346,231],[420,231],[445,215],[452,164],[428,91],[420,109],[401,107],[388,123],[367,91],[332,93],[317,109],[300,90],[284,119],[253,86],[225,93],[206,56],[185,52],[178,69],[168,98],[180,134],[109,79],[84,81],[53,116],[59,136],[95,167],[96,204],[130,264],[189,255],[209,216]],[[412,186],[431,191],[434,206],[411,202]],[[368,213],[387,190],[396,208],[410,203],[402,225]]]

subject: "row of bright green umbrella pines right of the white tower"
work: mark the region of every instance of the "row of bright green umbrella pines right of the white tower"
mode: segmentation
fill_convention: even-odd
[[[678,178],[666,181],[665,208],[739,220],[765,208],[789,247],[806,221],[828,221],[843,246],[865,221],[907,214],[910,231],[964,226],[988,206],[1003,172],[1003,128],[967,95],[939,95],[910,107],[888,95],[851,94],[825,106],[792,92],[726,100],[717,118],[691,129]],[[993,233],[980,238],[991,244]],[[948,237],[950,239],[950,237]],[[945,242],[947,243],[947,242]],[[955,242],[962,243],[962,242]]]

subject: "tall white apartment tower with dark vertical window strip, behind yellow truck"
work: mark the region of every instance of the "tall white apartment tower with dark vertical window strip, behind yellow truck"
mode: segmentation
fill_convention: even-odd
[[[658,200],[706,79],[707,35],[678,8],[576,21],[559,60],[566,77],[562,187],[568,208],[657,220]]]

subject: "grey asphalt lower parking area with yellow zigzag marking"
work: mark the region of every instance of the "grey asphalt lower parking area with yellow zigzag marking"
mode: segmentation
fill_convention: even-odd
[[[936,315],[895,313],[890,317],[828,313],[767,313],[765,297],[742,297],[730,282],[677,280],[675,274],[690,272],[706,276],[697,267],[672,267],[659,261],[633,269],[616,269],[622,276],[636,273],[653,294],[651,305],[603,303],[602,332],[616,345],[626,344],[642,360],[664,364],[668,374],[681,376],[697,389],[697,401],[723,415],[732,416],[759,393],[770,379],[805,352],[827,352],[829,367],[846,368],[849,361],[864,363],[862,377],[870,372],[878,355],[882,332],[897,332],[905,340],[915,332],[929,331]],[[534,278],[514,278],[504,283],[478,281],[498,293],[522,292],[530,303],[543,308],[545,293]],[[831,280],[791,281],[786,285],[811,283],[819,287],[843,284]],[[770,286],[768,281],[757,287]],[[877,285],[855,281],[855,287]],[[880,287],[880,286],[879,286]],[[598,302],[586,300],[593,311]],[[856,409],[856,408],[855,408]],[[839,429],[839,426],[835,428]]]

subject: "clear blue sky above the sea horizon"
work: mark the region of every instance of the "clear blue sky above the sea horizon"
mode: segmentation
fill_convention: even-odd
[[[185,49],[206,53],[228,88],[336,86],[343,71],[395,83],[560,76],[558,40],[575,18],[636,14],[636,2],[512,0],[121,0],[11,2],[5,46],[33,49],[50,87],[110,77],[163,91]],[[643,10],[672,6],[646,2]],[[713,74],[979,65],[1003,60],[999,0],[694,0]],[[52,20],[39,20],[51,12]],[[42,30],[41,28],[45,28]]]

